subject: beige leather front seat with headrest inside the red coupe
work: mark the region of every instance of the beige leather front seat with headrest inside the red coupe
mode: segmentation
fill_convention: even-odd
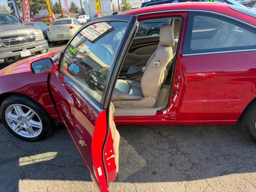
[[[146,67],[140,82],[117,80],[112,95],[115,107],[154,107],[164,82],[166,66],[173,56],[174,33],[169,24],[161,26],[159,39],[156,54]]]

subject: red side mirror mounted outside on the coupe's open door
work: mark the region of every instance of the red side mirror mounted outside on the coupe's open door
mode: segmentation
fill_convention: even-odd
[[[35,75],[46,74],[57,71],[57,66],[50,58],[44,58],[31,63],[32,72]]]

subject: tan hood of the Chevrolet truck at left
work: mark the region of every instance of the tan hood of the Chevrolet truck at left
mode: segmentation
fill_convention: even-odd
[[[16,35],[21,33],[35,32],[36,29],[26,25],[4,25],[0,28],[0,36]]]

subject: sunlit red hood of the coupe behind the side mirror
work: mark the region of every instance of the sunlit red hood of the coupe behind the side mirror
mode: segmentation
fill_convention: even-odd
[[[0,70],[0,76],[29,72],[31,71],[30,64],[32,62],[39,59],[43,59],[43,58],[49,58],[49,57],[52,58],[59,52],[60,51],[48,52],[48,53],[44,53],[44,54],[40,54],[37,56],[32,56],[30,58],[20,60]]]

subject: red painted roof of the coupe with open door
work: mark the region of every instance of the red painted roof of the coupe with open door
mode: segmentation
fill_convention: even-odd
[[[224,14],[227,16],[231,16],[233,18],[237,18],[239,20],[243,20],[248,22],[254,26],[256,26],[255,18],[252,16],[248,16],[241,12],[231,9],[228,7],[226,3],[218,3],[218,2],[182,2],[182,3],[169,3],[169,4],[160,4],[153,5],[148,7],[142,7],[134,10],[129,10],[122,12],[121,14],[125,15],[145,15],[150,13],[157,12],[168,12],[168,11],[191,11],[191,10],[202,10],[204,12],[216,12],[220,14]],[[138,18],[140,19],[140,18]]]

